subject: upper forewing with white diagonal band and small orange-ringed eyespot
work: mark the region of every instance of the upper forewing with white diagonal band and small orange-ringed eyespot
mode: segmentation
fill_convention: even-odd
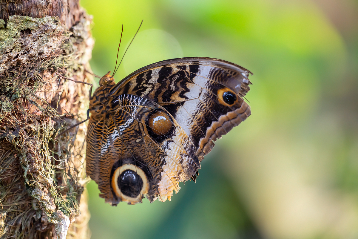
[[[137,95],[168,110],[193,142],[201,162],[213,141],[251,114],[242,99],[250,90],[249,73],[220,59],[171,59],[133,72],[111,94]]]

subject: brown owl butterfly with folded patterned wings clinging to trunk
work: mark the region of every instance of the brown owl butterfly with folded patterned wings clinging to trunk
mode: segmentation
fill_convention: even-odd
[[[99,81],[89,111],[86,171],[112,205],[170,200],[200,162],[250,114],[250,71],[214,58],[150,64]]]

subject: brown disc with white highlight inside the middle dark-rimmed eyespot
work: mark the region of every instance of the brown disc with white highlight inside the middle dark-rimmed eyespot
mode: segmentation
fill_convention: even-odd
[[[157,111],[150,115],[148,125],[150,130],[156,135],[166,135],[171,127],[173,127],[169,116],[163,111]]]

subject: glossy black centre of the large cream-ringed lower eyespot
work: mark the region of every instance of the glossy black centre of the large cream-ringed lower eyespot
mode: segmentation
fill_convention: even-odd
[[[142,190],[143,180],[133,170],[127,169],[117,178],[118,187],[128,197],[137,197]]]

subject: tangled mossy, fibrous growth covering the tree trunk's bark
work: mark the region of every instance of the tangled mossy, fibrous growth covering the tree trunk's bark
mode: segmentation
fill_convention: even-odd
[[[76,26],[88,36],[86,24]],[[0,171],[0,201],[11,201],[0,208],[0,235],[41,237],[79,214],[74,141],[55,139],[66,122],[41,97],[57,69],[83,74],[78,45],[84,46],[81,34],[67,32],[57,17],[10,16],[6,28],[0,20],[0,168],[12,159],[11,169]]]

